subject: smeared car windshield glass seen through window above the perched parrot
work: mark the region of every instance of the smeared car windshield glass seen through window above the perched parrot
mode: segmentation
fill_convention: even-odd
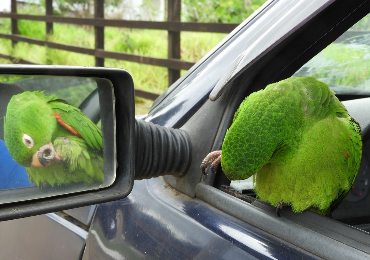
[[[314,76],[337,93],[370,93],[370,15],[302,66],[293,76]],[[355,89],[354,89],[355,88]]]

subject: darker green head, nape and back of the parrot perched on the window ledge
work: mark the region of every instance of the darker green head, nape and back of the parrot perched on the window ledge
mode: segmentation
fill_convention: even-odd
[[[266,162],[289,160],[302,133],[317,121],[327,116],[349,117],[334,94],[314,77],[289,78],[250,94],[240,104],[226,133],[223,168],[232,178],[245,179]],[[245,154],[246,159],[235,161],[229,152]]]

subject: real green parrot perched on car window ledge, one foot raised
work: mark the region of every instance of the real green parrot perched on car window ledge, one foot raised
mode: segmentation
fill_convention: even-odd
[[[253,175],[258,199],[326,215],[353,186],[362,155],[360,125],[314,77],[269,84],[240,104],[221,151],[202,161],[230,180]],[[221,156],[222,154],[222,156]]]

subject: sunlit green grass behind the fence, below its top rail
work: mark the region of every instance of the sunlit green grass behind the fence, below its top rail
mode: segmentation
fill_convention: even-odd
[[[28,11],[29,13],[30,11]],[[27,12],[24,12],[27,13]],[[45,40],[44,22],[19,20],[20,34]],[[0,19],[0,33],[10,34],[10,19]],[[91,26],[74,26],[53,24],[53,35],[47,40],[55,43],[68,44],[94,49],[94,28]],[[166,59],[168,55],[168,36],[164,30],[127,29],[106,27],[104,31],[104,49],[135,55]],[[226,34],[222,33],[181,33],[181,59],[196,62],[221,41]],[[11,40],[0,39],[0,53],[28,60],[37,64],[94,66],[95,58],[87,54],[50,49],[19,42],[14,48]],[[10,63],[2,60],[2,63]],[[123,68],[131,73],[137,89],[161,94],[168,87],[168,69],[159,66],[134,63],[124,60],[105,59],[105,67]],[[182,70],[181,74],[185,71]],[[152,101],[135,98],[137,114],[145,114]]]

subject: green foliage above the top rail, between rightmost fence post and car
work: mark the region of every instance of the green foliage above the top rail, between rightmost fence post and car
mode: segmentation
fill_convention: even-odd
[[[182,17],[189,22],[241,23],[265,0],[183,0]]]

